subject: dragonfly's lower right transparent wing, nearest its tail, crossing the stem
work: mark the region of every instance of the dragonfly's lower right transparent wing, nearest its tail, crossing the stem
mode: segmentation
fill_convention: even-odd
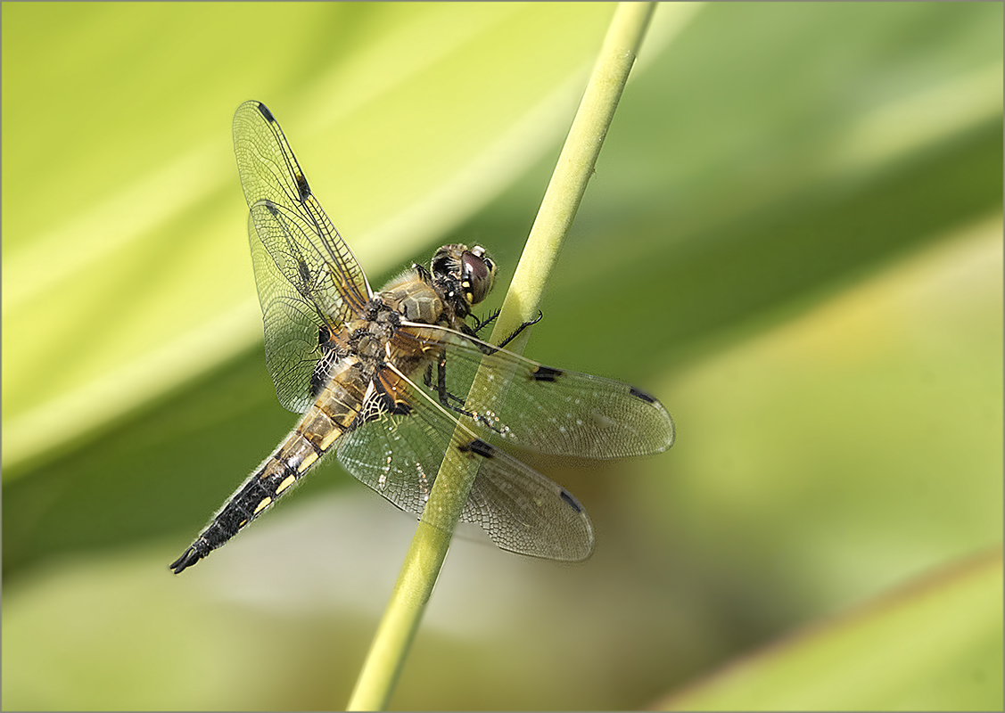
[[[385,370],[392,391],[409,405],[392,413],[386,397],[367,402],[371,420],[337,442],[339,460],[356,478],[403,510],[421,513],[444,454],[452,449],[477,462],[477,475],[461,514],[502,549],[549,559],[579,561],[593,549],[593,526],[583,506],[557,483],[470,431],[454,438],[457,421],[401,375]],[[391,387],[391,388],[388,388]]]

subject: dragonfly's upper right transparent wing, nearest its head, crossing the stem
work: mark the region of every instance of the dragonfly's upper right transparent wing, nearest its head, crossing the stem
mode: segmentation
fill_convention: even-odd
[[[430,331],[428,325],[410,325],[396,338],[402,348],[408,340],[411,348],[420,340],[429,348]],[[673,421],[666,409],[634,387],[545,367],[452,329],[435,331],[441,362],[423,383],[434,399],[489,429],[495,443],[594,459],[660,453],[673,445]],[[489,380],[464,403],[479,365],[488,370]],[[508,377],[512,380],[504,387]]]

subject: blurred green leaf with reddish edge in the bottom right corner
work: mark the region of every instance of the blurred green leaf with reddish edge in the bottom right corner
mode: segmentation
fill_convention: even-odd
[[[999,710],[1000,547],[772,645],[660,710]]]

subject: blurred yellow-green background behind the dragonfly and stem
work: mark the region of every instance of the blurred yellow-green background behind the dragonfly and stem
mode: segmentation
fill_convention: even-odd
[[[231,115],[372,283],[478,242],[497,306],[612,12],[3,4],[5,708],[345,705],[414,518],[333,461],[167,568],[294,419]],[[461,533],[393,707],[1001,708],[1002,19],[659,6],[527,353],[677,443],[542,465],[584,564]]]

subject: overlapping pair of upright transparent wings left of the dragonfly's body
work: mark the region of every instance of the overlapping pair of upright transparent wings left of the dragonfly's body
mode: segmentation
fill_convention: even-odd
[[[264,104],[234,114],[234,154],[250,215],[248,239],[265,328],[265,362],[287,409],[311,402],[319,328],[334,331],[373,292],[349,246],[311,193]]]

